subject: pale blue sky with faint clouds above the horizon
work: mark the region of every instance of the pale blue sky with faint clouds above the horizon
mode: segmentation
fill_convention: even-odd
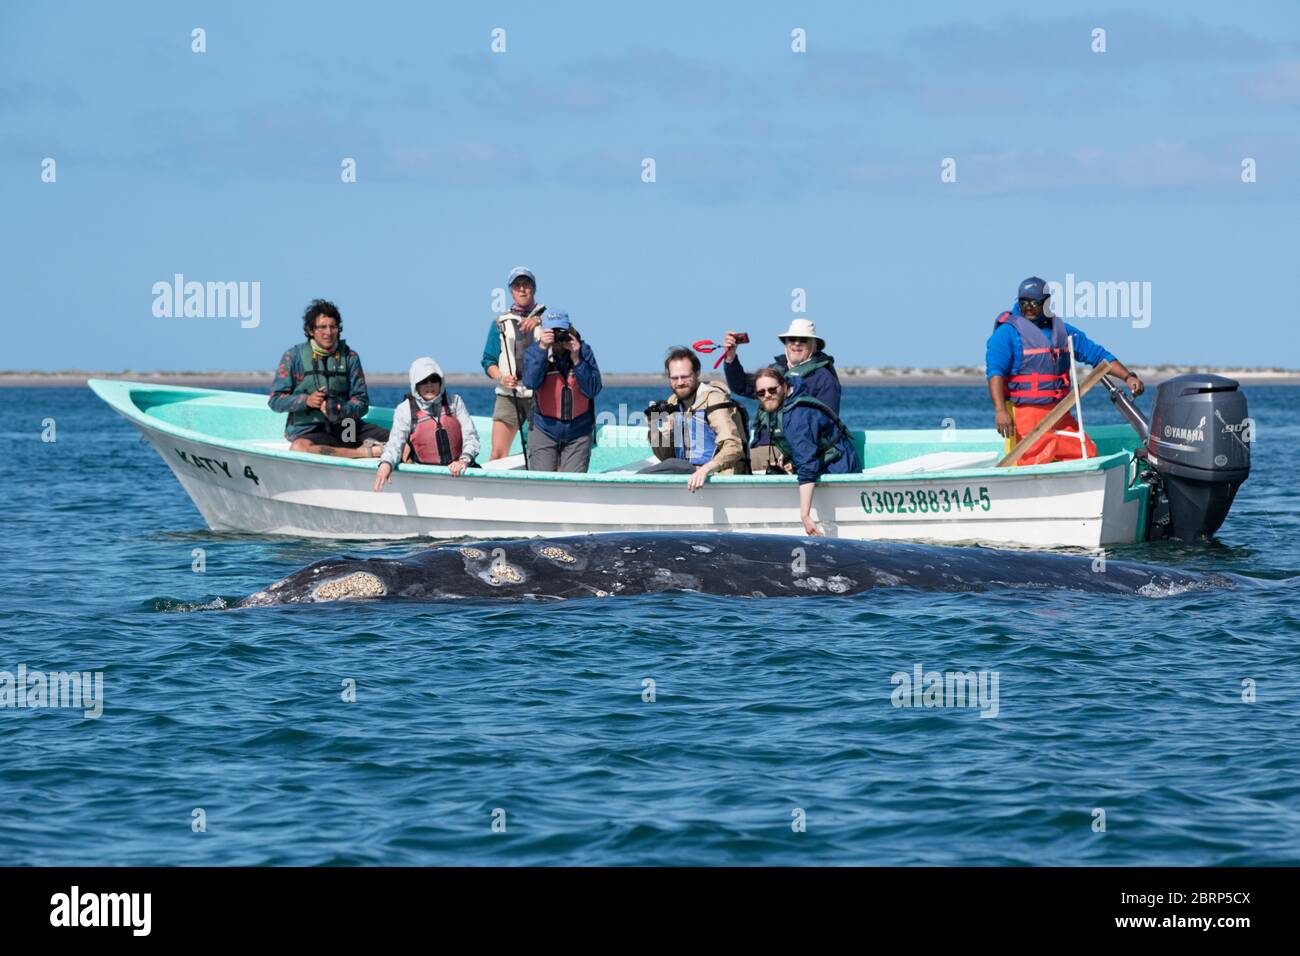
[[[1296,368],[1297,206],[1294,3],[0,4],[8,369],[272,368],[317,295],[476,369],[520,263],[607,371],[796,287],[841,365],[979,364],[1031,273],[1150,282],[1076,323],[1127,362]]]

